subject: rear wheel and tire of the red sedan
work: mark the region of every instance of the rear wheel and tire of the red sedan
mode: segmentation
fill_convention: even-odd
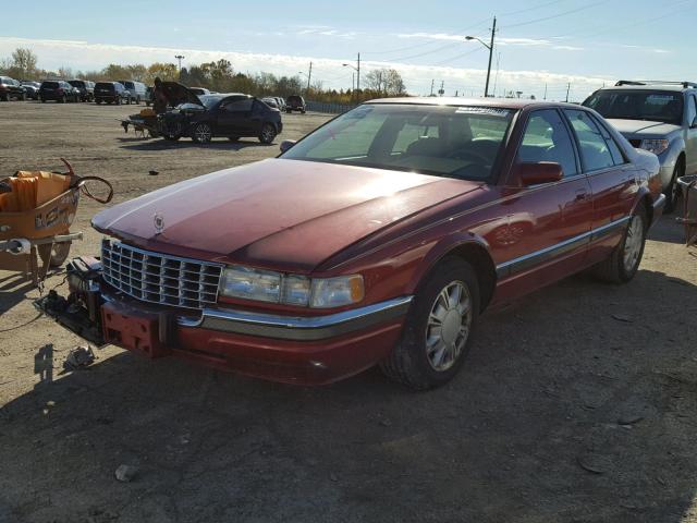
[[[640,205],[629,218],[622,241],[612,254],[594,267],[595,275],[601,280],[609,283],[626,283],[639,270],[648,230],[646,211]]]

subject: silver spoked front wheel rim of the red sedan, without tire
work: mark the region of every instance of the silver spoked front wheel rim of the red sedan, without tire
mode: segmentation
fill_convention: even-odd
[[[462,281],[452,281],[436,296],[426,324],[426,356],[437,372],[452,367],[472,327],[472,296]]]

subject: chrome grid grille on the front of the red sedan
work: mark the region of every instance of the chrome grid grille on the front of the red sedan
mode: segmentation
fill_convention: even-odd
[[[218,300],[222,265],[143,251],[103,239],[101,267],[107,283],[144,302],[204,308]]]

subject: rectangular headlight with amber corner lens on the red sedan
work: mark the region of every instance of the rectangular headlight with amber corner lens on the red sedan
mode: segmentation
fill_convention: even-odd
[[[223,271],[220,294],[243,300],[330,308],[362,301],[365,290],[359,275],[310,280],[304,276],[230,266]]]

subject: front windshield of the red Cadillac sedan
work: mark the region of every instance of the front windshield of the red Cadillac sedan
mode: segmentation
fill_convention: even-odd
[[[497,107],[363,105],[281,158],[488,180],[514,111]]]

